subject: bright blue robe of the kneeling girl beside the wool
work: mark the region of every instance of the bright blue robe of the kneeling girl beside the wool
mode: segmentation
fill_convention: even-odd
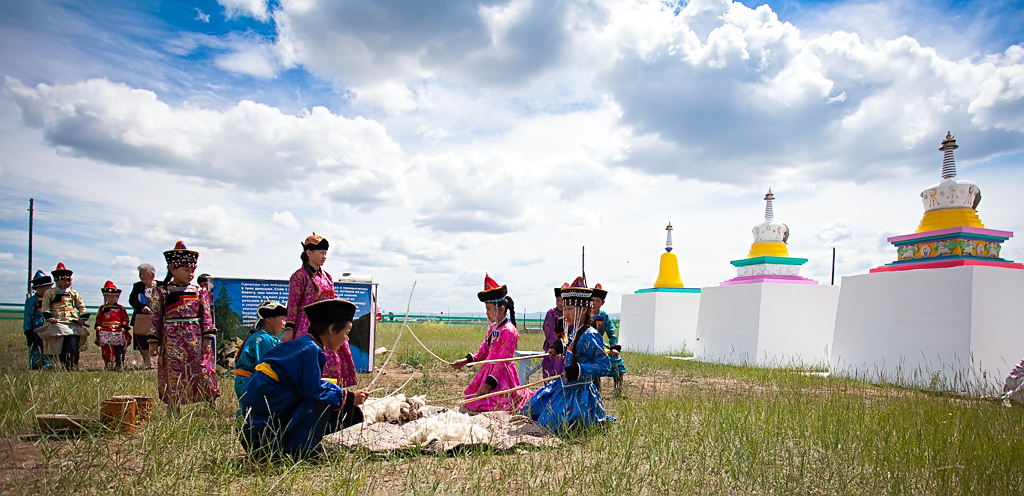
[[[570,335],[569,342],[577,336]],[[604,411],[601,394],[594,385],[594,378],[608,374],[608,356],[604,341],[593,327],[579,336],[574,350],[565,352],[564,367],[569,374],[573,356],[578,356],[580,376],[575,380],[565,377],[548,382],[534,395],[522,414],[544,425],[548,430],[561,431],[573,425],[589,426],[598,422],[614,422],[614,417]],[[572,347],[571,345],[569,347]]]

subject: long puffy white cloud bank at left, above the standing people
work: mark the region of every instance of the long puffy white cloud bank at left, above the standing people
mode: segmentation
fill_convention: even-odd
[[[225,111],[171,107],[151,91],[102,79],[28,87],[7,78],[6,85],[26,122],[62,155],[251,189],[316,173],[372,175],[381,189],[402,188],[402,153],[384,127],[323,107],[298,116],[249,100]]]

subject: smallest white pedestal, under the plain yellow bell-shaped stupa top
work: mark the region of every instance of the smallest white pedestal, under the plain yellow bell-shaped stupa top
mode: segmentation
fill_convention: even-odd
[[[696,291],[624,294],[618,343],[627,352],[692,353],[699,307]]]

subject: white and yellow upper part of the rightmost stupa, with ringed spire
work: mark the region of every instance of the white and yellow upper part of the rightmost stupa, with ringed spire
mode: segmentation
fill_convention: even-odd
[[[953,135],[946,132],[946,138],[939,147],[939,151],[943,152],[942,182],[921,192],[925,217],[918,225],[918,233],[950,228],[985,228],[977,212],[981,189],[974,182],[956,180],[953,150],[958,148]]]

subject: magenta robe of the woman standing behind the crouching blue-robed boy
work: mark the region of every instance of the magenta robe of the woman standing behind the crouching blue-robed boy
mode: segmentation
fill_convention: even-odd
[[[323,267],[312,276],[306,267],[295,271],[292,278],[288,280],[288,318],[289,324],[295,326],[292,339],[298,339],[309,333],[309,319],[302,308],[308,304],[325,299],[332,299],[334,294],[334,280]],[[338,353],[325,349],[327,365],[324,366],[324,377],[330,377],[338,381],[338,385],[348,387],[355,385],[355,361],[352,360],[352,352],[348,348],[348,341],[342,344]]]

